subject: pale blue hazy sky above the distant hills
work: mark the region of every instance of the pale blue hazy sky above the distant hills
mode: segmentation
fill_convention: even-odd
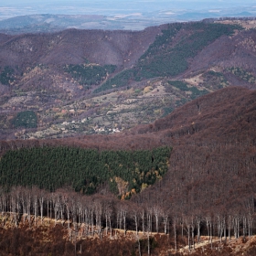
[[[0,19],[35,14],[118,16],[166,12],[229,13],[250,11],[256,16],[256,0],[1,0]]]

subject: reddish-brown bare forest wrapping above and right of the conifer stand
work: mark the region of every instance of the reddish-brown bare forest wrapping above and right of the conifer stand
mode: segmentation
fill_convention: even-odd
[[[164,192],[169,195],[166,200],[188,193],[202,206],[207,202],[212,206],[213,201],[222,205],[222,200],[227,199],[232,205],[232,198],[248,197],[254,191],[255,124],[256,91],[233,87],[189,102],[154,124],[129,133],[3,141],[1,151],[35,145],[131,150],[168,144],[174,147],[169,172],[158,184],[161,189],[165,187]]]

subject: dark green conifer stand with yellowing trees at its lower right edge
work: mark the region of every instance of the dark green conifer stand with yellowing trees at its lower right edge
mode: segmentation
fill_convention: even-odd
[[[101,151],[76,147],[34,147],[8,151],[0,161],[0,185],[55,191],[65,185],[83,194],[109,187],[129,198],[155,184],[168,169],[170,147],[154,150]]]

